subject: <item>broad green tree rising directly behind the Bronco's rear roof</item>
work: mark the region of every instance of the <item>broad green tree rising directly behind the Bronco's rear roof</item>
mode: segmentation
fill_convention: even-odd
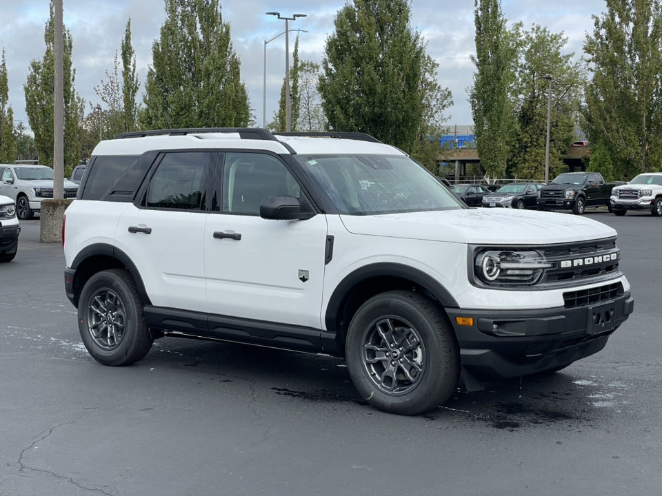
[[[248,92],[219,1],[165,0],[165,10],[152,45],[141,127],[247,126]]]

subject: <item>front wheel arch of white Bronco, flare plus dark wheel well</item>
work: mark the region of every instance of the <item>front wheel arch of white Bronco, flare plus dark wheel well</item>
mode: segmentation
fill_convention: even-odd
[[[329,299],[322,335],[324,350],[344,356],[345,337],[354,313],[373,296],[394,289],[421,291],[439,302],[441,310],[459,307],[448,289],[419,269],[392,262],[366,265],[345,276]]]

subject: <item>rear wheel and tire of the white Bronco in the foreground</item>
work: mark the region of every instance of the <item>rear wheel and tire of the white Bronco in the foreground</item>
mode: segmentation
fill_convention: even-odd
[[[92,358],[104,365],[142,360],[154,342],[136,285],[120,269],[101,271],[86,282],[78,304],[78,327]]]

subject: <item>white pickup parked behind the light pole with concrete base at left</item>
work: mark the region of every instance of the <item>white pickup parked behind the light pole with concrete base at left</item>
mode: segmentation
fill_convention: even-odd
[[[78,185],[64,181],[64,197],[76,198]],[[0,195],[16,202],[19,219],[34,217],[41,200],[53,197],[53,169],[46,165],[0,164]]]

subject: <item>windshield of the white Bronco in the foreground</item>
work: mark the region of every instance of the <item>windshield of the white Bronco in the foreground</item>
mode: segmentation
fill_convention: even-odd
[[[466,208],[437,178],[407,156],[302,154],[294,158],[341,214]]]

